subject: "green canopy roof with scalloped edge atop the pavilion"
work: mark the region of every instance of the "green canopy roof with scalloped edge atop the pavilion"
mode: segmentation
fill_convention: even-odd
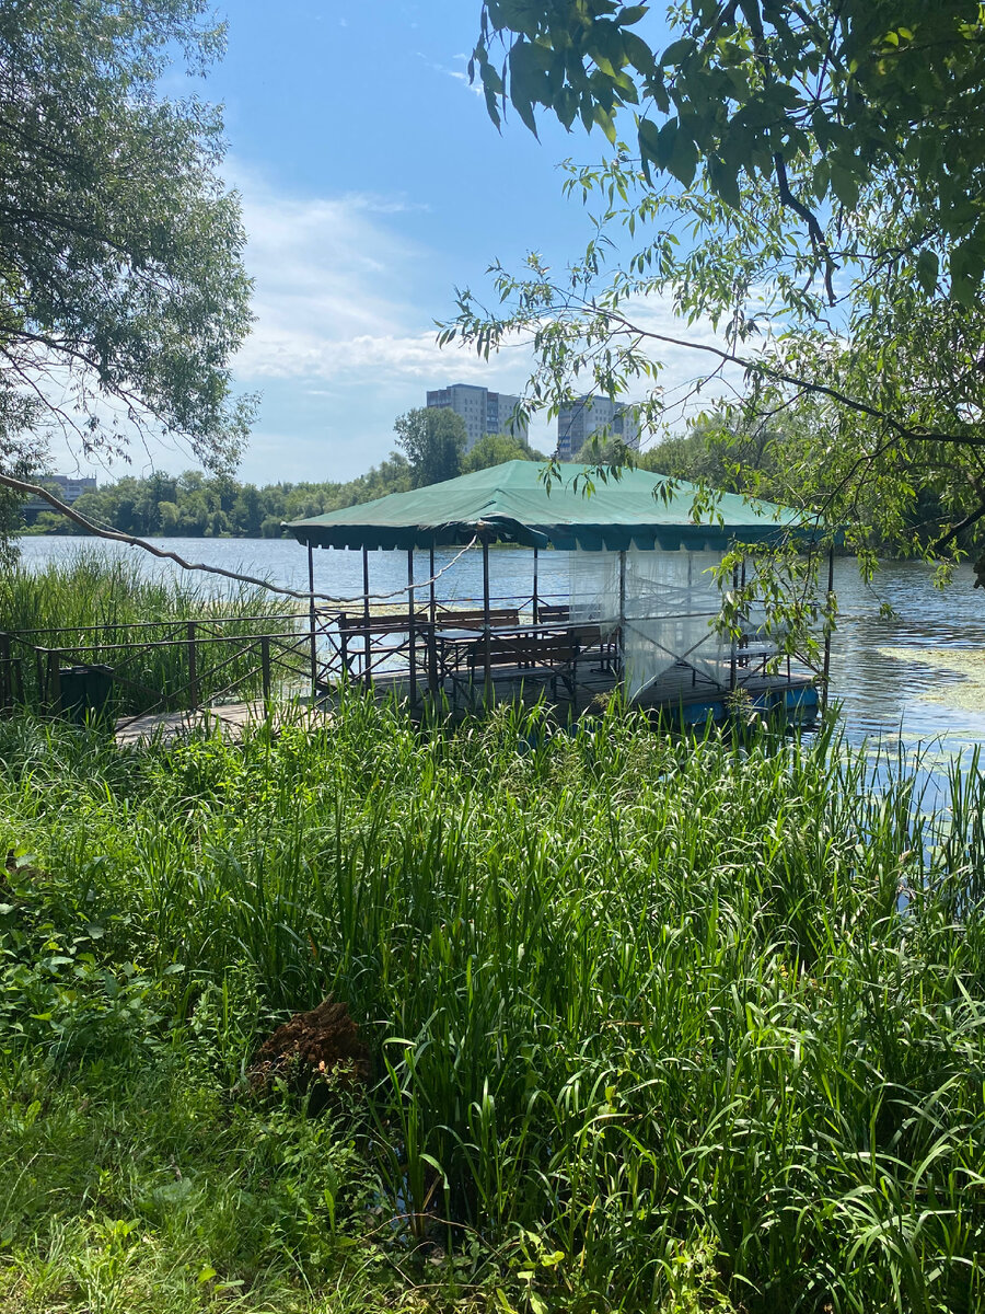
[[[531,548],[699,552],[724,549],[735,540],[776,540],[799,523],[793,512],[770,502],[746,502],[722,493],[717,512],[724,523],[695,524],[691,484],[682,484],[665,503],[653,495],[661,476],[646,470],[624,470],[620,480],[604,484],[595,480],[587,495],[583,482],[573,489],[583,465],[562,465],[562,482],[553,482],[550,491],[540,478],[541,469],[538,461],[504,461],[429,487],[292,520],[286,528],[299,543],[315,548],[429,548],[469,543],[478,535],[489,543]]]

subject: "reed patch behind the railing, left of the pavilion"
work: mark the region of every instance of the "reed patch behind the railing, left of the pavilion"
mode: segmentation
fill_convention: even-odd
[[[22,636],[12,654],[21,658],[25,703],[38,707],[43,679],[30,653],[62,652],[60,665],[102,662],[114,668],[114,708],[131,714],[186,706],[190,679],[188,622],[209,618],[259,618],[226,623],[197,635],[196,677],[200,700],[234,690],[260,689],[257,653],[235,656],[238,644],[215,643],[261,633],[290,633],[290,604],[265,590],[215,576],[148,574],[139,560],[80,548],[67,562],[41,570],[14,564],[0,579],[0,631]],[[210,641],[210,633],[213,636]],[[177,641],[176,641],[177,640]],[[121,648],[120,645],[134,645]],[[290,662],[301,674],[303,657]]]

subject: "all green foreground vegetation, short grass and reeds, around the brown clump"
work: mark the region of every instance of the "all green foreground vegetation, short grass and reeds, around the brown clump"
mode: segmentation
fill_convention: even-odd
[[[977,762],[929,817],[617,710],[0,735],[5,1307],[985,1303]],[[244,1101],[327,995],[370,1091]]]

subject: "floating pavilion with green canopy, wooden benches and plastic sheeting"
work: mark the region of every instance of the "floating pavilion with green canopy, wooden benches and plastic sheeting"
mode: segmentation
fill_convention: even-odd
[[[742,691],[763,711],[796,719],[816,714],[818,673],[789,657],[777,662],[764,615],[746,615],[730,635],[717,624],[721,591],[713,572],[725,552],[791,535],[809,541],[795,512],[721,494],[713,522],[697,523],[693,485],[661,491],[661,476],[640,469],[591,482],[582,465],[556,469],[559,478],[548,482],[538,463],[506,461],[288,523],[307,547],[311,594],[314,549],[362,553],[364,597],[355,610],[320,610],[311,599],[315,692],[353,681],[397,690],[412,704],[444,698],[456,708],[548,696],[561,711],[580,715],[619,689],[629,702],[703,723],[725,719]],[[521,597],[492,593],[494,544],[533,549],[529,591]],[[447,577],[436,578],[435,551],[465,547],[482,555],[482,597],[464,607],[439,595]],[[406,604],[382,611],[372,604],[369,553],[376,551],[406,555]],[[545,551],[567,555],[563,595],[542,591]],[[429,569],[422,578],[415,553],[419,560],[423,552]],[[743,576],[745,566],[734,583]]]

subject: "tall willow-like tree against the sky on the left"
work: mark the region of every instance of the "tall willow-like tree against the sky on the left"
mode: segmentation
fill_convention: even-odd
[[[84,455],[156,434],[235,459],[239,204],[219,114],[160,92],[176,53],[202,71],[222,41],[205,0],[0,7],[0,473],[53,428]]]

